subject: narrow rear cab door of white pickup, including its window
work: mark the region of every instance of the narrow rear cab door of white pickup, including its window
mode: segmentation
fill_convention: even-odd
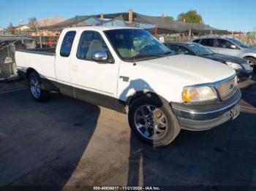
[[[56,79],[59,82],[59,88],[61,93],[69,96],[73,96],[73,88],[71,85],[69,67],[70,67],[70,53],[72,50],[72,44],[75,39],[76,31],[63,31],[63,36],[60,36],[57,48],[56,48],[56,61],[55,71]]]

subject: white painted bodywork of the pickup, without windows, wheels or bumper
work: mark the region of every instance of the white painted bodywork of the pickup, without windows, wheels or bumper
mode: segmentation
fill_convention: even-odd
[[[135,92],[152,92],[168,102],[181,103],[184,86],[197,85],[231,77],[236,74],[229,66],[189,55],[172,55],[148,61],[124,62],[118,58],[103,31],[120,27],[80,27],[62,31],[54,56],[28,52],[16,52],[18,69],[35,69],[41,77],[49,77],[60,83],[70,84],[83,90],[109,95],[127,101]],[[121,27],[123,28],[123,27]],[[61,41],[67,31],[76,31],[69,58],[59,55]],[[98,31],[102,34],[115,63],[104,64],[84,61],[76,57],[80,34],[83,31]],[[56,61],[55,61],[56,59]],[[57,74],[57,76],[56,76]],[[120,77],[129,77],[128,82]]]

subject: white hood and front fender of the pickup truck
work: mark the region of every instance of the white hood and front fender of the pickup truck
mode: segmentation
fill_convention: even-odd
[[[148,91],[181,103],[184,86],[217,82],[234,74],[236,71],[229,66],[191,55],[141,61],[136,66],[121,62],[119,75],[129,77],[129,82],[118,79],[118,98],[125,101],[137,91]]]

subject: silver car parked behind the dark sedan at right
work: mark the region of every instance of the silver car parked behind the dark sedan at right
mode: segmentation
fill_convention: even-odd
[[[200,43],[222,55],[244,58],[249,61],[254,71],[256,71],[256,47],[250,47],[244,42],[229,36],[203,36],[193,39],[192,42]]]

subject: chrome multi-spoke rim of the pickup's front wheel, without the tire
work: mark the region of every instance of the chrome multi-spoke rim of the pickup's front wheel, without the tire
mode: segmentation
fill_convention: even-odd
[[[135,126],[146,139],[162,138],[167,130],[166,119],[162,110],[152,105],[140,106],[135,112]]]

